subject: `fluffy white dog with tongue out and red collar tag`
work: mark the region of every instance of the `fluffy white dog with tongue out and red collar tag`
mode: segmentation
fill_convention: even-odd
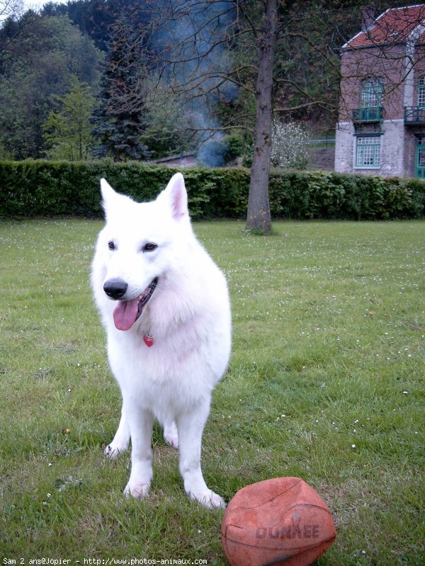
[[[183,176],[152,203],[135,203],[102,179],[106,225],[91,283],[108,335],[108,359],[123,396],[118,431],[106,454],[131,438],[125,493],[145,496],[152,481],[152,424],[179,446],[186,493],[224,506],[200,469],[211,392],[227,368],[231,341],[225,277],[192,232]]]

